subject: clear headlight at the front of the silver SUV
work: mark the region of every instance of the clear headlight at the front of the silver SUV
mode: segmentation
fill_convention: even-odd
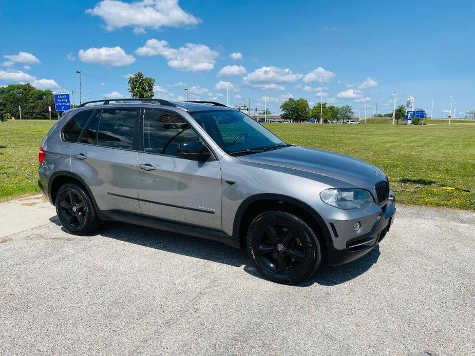
[[[320,192],[320,198],[328,205],[345,210],[374,202],[373,195],[365,189],[325,189]]]

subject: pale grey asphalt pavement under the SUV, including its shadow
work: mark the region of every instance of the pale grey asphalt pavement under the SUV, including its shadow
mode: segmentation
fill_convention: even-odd
[[[44,223],[0,238],[0,354],[475,354],[475,212],[399,205],[377,249],[300,286],[213,241]]]

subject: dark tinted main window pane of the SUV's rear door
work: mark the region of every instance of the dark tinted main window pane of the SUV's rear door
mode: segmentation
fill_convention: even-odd
[[[134,130],[140,109],[102,110],[97,144],[100,146],[133,148]]]

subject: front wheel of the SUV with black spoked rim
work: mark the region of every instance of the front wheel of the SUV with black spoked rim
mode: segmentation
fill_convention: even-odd
[[[315,232],[298,216],[284,211],[258,215],[249,227],[246,246],[256,268],[277,283],[301,283],[321,262]]]

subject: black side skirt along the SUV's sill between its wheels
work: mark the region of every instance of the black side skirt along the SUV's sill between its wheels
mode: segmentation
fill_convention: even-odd
[[[196,236],[197,238],[219,241],[226,245],[240,248],[239,241],[237,239],[233,239],[232,236],[229,236],[224,232],[217,230],[206,229],[198,226],[184,225],[175,222],[154,219],[153,217],[134,215],[128,212],[124,213],[121,211],[114,210],[102,210],[99,212],[98,215],[101,220],[121,221],[128,224],[146,226],[154,229]]]

